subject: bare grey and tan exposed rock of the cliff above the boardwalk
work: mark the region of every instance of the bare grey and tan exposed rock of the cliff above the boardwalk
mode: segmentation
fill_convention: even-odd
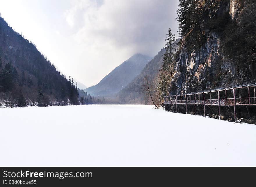
[[[236,19],[239,4],[236,0],[222,1],[218,6],[216,16]],[[198,49],[189,50],[185,40],[181,43],[181,50],[176,59],[177,72],[171,82],[170,94],[189,93],[217,87],[250,82],[246,75],[235,63],[225,56],[222,47],[222,32],[207,28],[201,24],[206,42]]]

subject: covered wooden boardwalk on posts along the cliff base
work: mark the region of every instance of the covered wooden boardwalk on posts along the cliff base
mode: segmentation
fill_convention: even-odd
[[[245,106],[247,111],[247,106],[255,106],[256,109],[255,89],[256,83],[224,89],[207,90],[198,93],[171,95],[164,98],[164,107],[168,111],[175,111],[177,113],[180,105],[186,106],[186,114],[188,114],[188,106],[194,105],[194,114],[196,115],[196,106],[202,106],[204,107],[204,116],[206,117],[206,106],[218,106],[219,120],[221,120],[221,106],[234,107],[234,121],[236,122],[236,106]],[[250,116],[249,111],[248,114]]]

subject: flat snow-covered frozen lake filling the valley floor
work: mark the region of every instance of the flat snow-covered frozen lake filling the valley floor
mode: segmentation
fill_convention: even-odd
[[[256,125],[149,105],[0,109],[0,166],[256,166]]]

